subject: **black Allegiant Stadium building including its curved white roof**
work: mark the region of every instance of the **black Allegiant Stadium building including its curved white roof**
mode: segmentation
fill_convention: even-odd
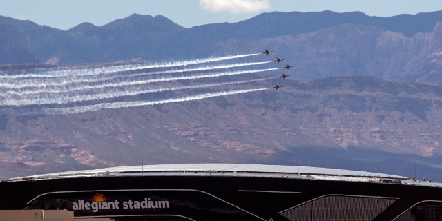
[[[4,180],[0,209],[115,220],[442,220],[441,186],[305,166],[125,166]]]

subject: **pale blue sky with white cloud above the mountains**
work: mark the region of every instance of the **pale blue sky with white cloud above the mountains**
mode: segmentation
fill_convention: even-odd
[[[137,13],[163,15],[185,28],[234,23],[263,12],[363,12],[394,15],[442,10],[442,0],[0,0],[0,15],[68,30],[80,23],[103,26]]]

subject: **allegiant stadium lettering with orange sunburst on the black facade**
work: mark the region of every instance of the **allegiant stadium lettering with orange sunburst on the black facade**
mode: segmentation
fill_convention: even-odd
[[[117,209],[168,209],[170,207],[167,200],[151,200],[151,198],[144,198],[144,200],[126,200],[120,202],[119,200],[106,201],[106,198],[101,193],[93,196],[91,202],[85,200],[77,200],[72,203],[73,211],[93,211],[94,213],[100,210],[117,210]]]

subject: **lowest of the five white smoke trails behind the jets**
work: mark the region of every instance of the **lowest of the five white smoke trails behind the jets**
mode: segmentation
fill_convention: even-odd
[[[70,108],[42,108],[45,114],[48,115],[63,115],[63,114],[73,114],[73,113],[83,113],[89,111],[99,111],[102,109],[114,109],[114,108],[128,108],[135,106],[149,106],[155,104],[169,104],[175,102],[189,102],[197,99],[206,99],[209,97],[220,97],[225,95],[235,95],[239,93],[249,93],[260,90],[267,90],[269,88],[258,88],[258,89],[248,89],[248,90],[229,90],[229,91],[220,91],[216,93],[205,93],[200,95],[192,95],[186,97],[178,97],[171,99],[163,99],[153,102],[145,102],[145,101],[137,101],[137,102],[114,102],[114,103],[101,103],[94,104],[90,106],[75,106]]]

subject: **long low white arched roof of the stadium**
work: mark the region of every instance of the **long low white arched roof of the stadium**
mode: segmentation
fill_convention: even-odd
[[[316,178],[325,180],[357,181],[361,178],[390,178],[405,180],[408,177],[372,173],[365,171],[350,171],[344,169],[329,169],[311,166],[282,166],[264,164],[158,164],[144,166],[117,166],[104,169],[84,171],[68,171],[17,177],[12,180],[40,180],[63,177],[93,177],[93,176],[137,176],[137,175],[229,175],[251,177],[291,177]]]

